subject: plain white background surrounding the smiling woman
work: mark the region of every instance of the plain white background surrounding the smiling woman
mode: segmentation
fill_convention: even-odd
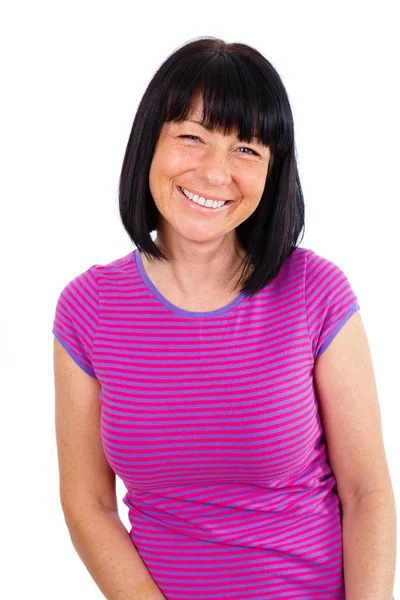
[[[2,597],[103,598],[59,503],[52,322],[66,283],[134,249],[117,203],[132,121],[155,71],[195,37],[254,46],[288,91],[306,203],[301,246],[340,266],[358,297],[398,497],[396,8],[53,0],[1,11]],[[118,480],[128,527],[124,491]]]

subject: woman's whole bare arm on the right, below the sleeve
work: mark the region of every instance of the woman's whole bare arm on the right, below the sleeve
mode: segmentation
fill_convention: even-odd
[[[316,359],[314,387],[342,507],[346,600],[392,600],[396,508],[359,312]]]

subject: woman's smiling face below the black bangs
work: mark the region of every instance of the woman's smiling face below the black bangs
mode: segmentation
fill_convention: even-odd
[[[200,124],[201,97],[187,120],[165,122],[150,167],[149,186],[160,213],[158,230],[204,242],[233,234],[257,208],[264,191],[270,150],[257,140],[240,142]],[[185,188],[207,199],[230,201],[204,208],[186,198]]]

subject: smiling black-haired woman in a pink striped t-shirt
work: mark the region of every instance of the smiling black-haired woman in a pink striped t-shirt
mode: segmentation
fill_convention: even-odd
[[[204,38],[164,62],[120,214],[137,249],[69,282],[53,328],[62,508],[103,594],[389,600],[395,507],[360,307],[297,246],[292,112],[257,50]]]

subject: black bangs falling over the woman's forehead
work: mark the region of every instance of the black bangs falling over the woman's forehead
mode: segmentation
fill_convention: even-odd
[[[202,125],[209,131],[234,133],[248,143],[255,138],[265,146],[278,143],[282,128],[271,87],[244,57],[216,53],[205,61],[195,55],[187,68],[180,65],[169,80],[163,120],[184,121],[198,98],[203,101]]]

